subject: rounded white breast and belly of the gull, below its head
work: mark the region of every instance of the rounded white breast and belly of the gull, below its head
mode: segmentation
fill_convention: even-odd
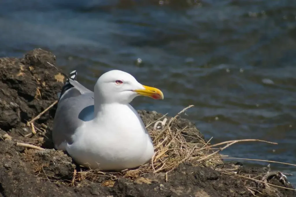
[[[130,105],[118,104],[78,128],[67,152],[91,169],[123,170],[147,162],[154,148],[138,113]]]

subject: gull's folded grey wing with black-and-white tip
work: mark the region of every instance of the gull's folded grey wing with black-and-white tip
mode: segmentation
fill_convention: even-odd
[[[94,92],[73,80],[76,74],[71,72],[63,86],[54,116],[52,139],[59,150],[65,150],[66,143],[72,144],[76,129],[94,117]]]

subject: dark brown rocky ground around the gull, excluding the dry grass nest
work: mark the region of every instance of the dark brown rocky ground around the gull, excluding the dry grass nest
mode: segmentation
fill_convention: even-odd
[[[293,190],[264,186],[215,170],[217,167],[238,168],[232,172],[241,175],[260,175],[268,170],[267,167],[244,167],[239,163],[209,167],[181,164],[168,174],[167,182],[162,173],[146,174],[136,180],[121,177],[111,182],[110,177],[103,174],[97,174],[95,179],[87,173],[74,175],[75,170],[79,172],[79,167],[76,167],[71,157],[52,149],[48,132],[45,135],[39,133],[38,137],[27,135],[31,128],[25,123],[57,99],[55,95],[61,90],[64,80],[64,77],[46,62],[55,64],[55,56],[41,49],[30,51],[24,58],[0,59],[0,197],[296,196]],[[36,120],[35,126],[49,131],[55,109],[56,106]],[[155,112],[139,113],[144,122],[161,117]],[[178,119],[176,126],[188,126],[196,130],[195,126],[185,119]],[[200,136],[203,137],[202,134]],[[16,142],[35,144],[46,150],[25,149],[16,146]],[[74,181],[73,176],[76,177]],[[270,176],[267,181],[293,188],[292,185],[284,185],[277,175]],[[250,192],[252,188],[254,194]]]

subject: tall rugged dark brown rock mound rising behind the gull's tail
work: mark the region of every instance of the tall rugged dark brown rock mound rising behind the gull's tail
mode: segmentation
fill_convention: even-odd
[[[42,49],[30,51],[24,58],[0,58],[0,129],[8,132],[16,128],[14,133],[24,133],[20,130],[21,123],[57,100],[55,95],[63,83],[55,79],[60,73],[47,62],[55,64],[55,56]],[[54,110],[52,108],[36,122],[52,119]]]

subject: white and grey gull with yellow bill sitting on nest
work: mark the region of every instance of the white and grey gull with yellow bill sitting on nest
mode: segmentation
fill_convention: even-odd
[[[52,128],[55,149],[66,151],[79,165],[103,171],[148,163],[153,142],[129,103],[140,95],[163,100],[163,92],[120,70],[102,74],[94,92],[76,77],[77,71],[72,71],[59,95]]]

